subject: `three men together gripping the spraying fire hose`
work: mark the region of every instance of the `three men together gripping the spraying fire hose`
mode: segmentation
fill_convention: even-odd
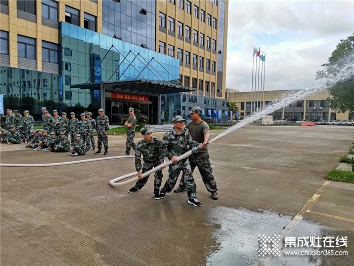
[[[175,116],[172,119],[173,128],[165,133],[162,139],[153,136],[150,127],[144,127],[140,130],[143,139],[135,147],[135,166],[138,172],[138,181],[129,189],[128,193],[135,193],[142,189],[149,178],[149,176],[143,177],[143,174],[153,167],[163,164],[164,158],[167,157],[173,164],[169,165],[168,179],[161,191],[162,168],[164,167],[156,171],[154,175],[154,198],[156,200],[164,199],[166,193],[172,191],[182,171],[180,184],[174,189],[174,193],[187,191],[188,203],[200,207],[201,203],[197,199],[197,187],[192,175],[196,167],[198,167],[207,191],[211,193],[211,198],[213,200],[218,199],[216,181],[207,150],[209,126],[201,119],[201,113],[202,109],[200,107],[193,107],[191,109],[192,121],[187,125],[185,125],[183,117]],[[198,147],[198,153],[192,154],[186,159],[178,160],[179,156],[193,147]],[[143,156],[143,166],[141,156]]]

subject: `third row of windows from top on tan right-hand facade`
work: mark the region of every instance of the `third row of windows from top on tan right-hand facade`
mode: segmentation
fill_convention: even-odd
[[[159,41],[159,53],[166,54],[166,43]],[[174,46],[167,45],[167,55],[174,57]],[[177,58],[180,59],[181,62],[185,62],[186,64],[191,64],[191,52],[185,51],[183,58],[183,49],[177,48]],[[198,67],[198,55],[192,54],[192,65]],[[208,58],[205,58],[205,69],[211,70],[215,72],[215,61],[211,61]],[[204,69],[204,57],[199,56],[199,68]]]

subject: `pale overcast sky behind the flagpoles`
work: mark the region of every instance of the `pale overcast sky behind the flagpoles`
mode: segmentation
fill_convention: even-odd
[[[352,33],[354,1],[230,0],[226,87],[251,91],[253,46],[267,54],[266,91],[311,86]]]

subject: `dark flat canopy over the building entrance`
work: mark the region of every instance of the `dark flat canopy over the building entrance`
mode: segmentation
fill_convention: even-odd
[[[111,82],[101,82],[101,83],[85,83],[71,85],[71,88],[80,89],[90,89],[90,90],[101,90],[107,92],[121,92],[121,93],[131,93],[140,94],[146,96],[159,96],[164,93],[177,93],[177,92],[191,92],[195,89],[190,87],[185,87],[182,85],[171,84],[161,81],[152,80],[123,80],[123,81],[111,81]]]

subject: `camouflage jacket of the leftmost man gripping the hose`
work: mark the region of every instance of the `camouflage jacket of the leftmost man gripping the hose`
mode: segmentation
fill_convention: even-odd
[[[153,137],[149,143],[147,143],[145,139],[137,143],[137,149],[135,150],[135,168],[138,172],[142,169],[141,156],[143,156],[144,162],[163,163],[163,156],[159,149],[160,143],[161,140],[157,137]]]

